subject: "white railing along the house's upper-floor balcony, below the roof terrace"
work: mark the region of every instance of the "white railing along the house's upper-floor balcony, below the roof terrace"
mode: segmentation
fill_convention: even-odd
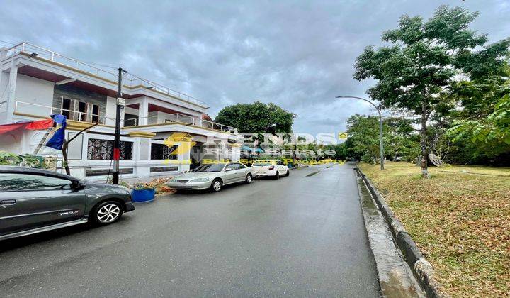
[[[101,116],[97,114],[85,113],[80,111],[73,111],[67,109],[60,109],[54,106],[44,106],[42,104],[32,104],[24,101],[14,101],[14,111],[21,114],[38,115],[38,116],[50,116],[51,114],[66,114],[69,120],[80,121],[80,122],[98,122],[100,124],[106,124],[106,120],[115,123],[115,118]],[[202,124],[196,123],[196,118],[192,116],[183,115],[179,113],[169,114],[168,116],[148,116],[141,118],[130,118],[125,119],[124,126],[139,126],[140,119],[147,118],[147,124],[162,124],[162,123],[185,123],[193,126],[200,126],[203,128],[214,129],[215,131],[223,131],[225,133],[237,134],[237,128],[232,126],[226,126],[220,123],[202,120]]]

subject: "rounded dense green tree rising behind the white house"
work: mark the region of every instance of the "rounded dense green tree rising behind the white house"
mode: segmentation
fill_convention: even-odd
[[[276,104],[255,101],[253,104],[226,106],[217,114],[215,121],[233,126],[239,133],[266,133],[266,128],[273,124],[271,132],[292,133],[295,116]]]

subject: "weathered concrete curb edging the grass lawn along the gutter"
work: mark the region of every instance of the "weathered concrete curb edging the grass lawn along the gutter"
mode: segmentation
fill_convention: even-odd
[[[398,248],[402,251],[402,255],[404,255],[404,260],[409,267],[411,267],[414,276],[418,280],[421,288],[424,289],[426,296],[443,297],[443,295],[438,291],[438,285],[432,279],[432,265],[425,260],[416,243],[412,240],[411,236],[409,236],[409,233],[407,233],[395,214],[393,214],[392,209],[386,204],[384,197],[382,197],[382,195],[378,192],[370,179],[361,172],[359,167],[356,166],[354,170],[358,172],[358,175],[365,182],[368,191],[372,194],[382,216],[390,226],[390,231],[392,232],[395,243],[397,243]]]

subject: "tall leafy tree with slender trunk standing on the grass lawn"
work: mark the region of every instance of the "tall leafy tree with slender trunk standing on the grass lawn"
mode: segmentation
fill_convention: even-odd
[[[487,36],[469,28],[479,13],[440,6],[434,16],[402,16],[395,30],[382,33],[392,45],[365,48],[356,59],[354,78],[377,80],[368,89],[383,108],[412,111],[420,116],[421,173],[429,177],[427,123],[447,114],[453,100],[442,96],[455,82],[455,75],[483,75],[504,64],[509,40],[485,45]]]

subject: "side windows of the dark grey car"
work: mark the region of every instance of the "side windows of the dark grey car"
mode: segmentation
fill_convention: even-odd
[[[70,180],[52,176],[0,173],[0,192],[62,189],[70,184]]]

